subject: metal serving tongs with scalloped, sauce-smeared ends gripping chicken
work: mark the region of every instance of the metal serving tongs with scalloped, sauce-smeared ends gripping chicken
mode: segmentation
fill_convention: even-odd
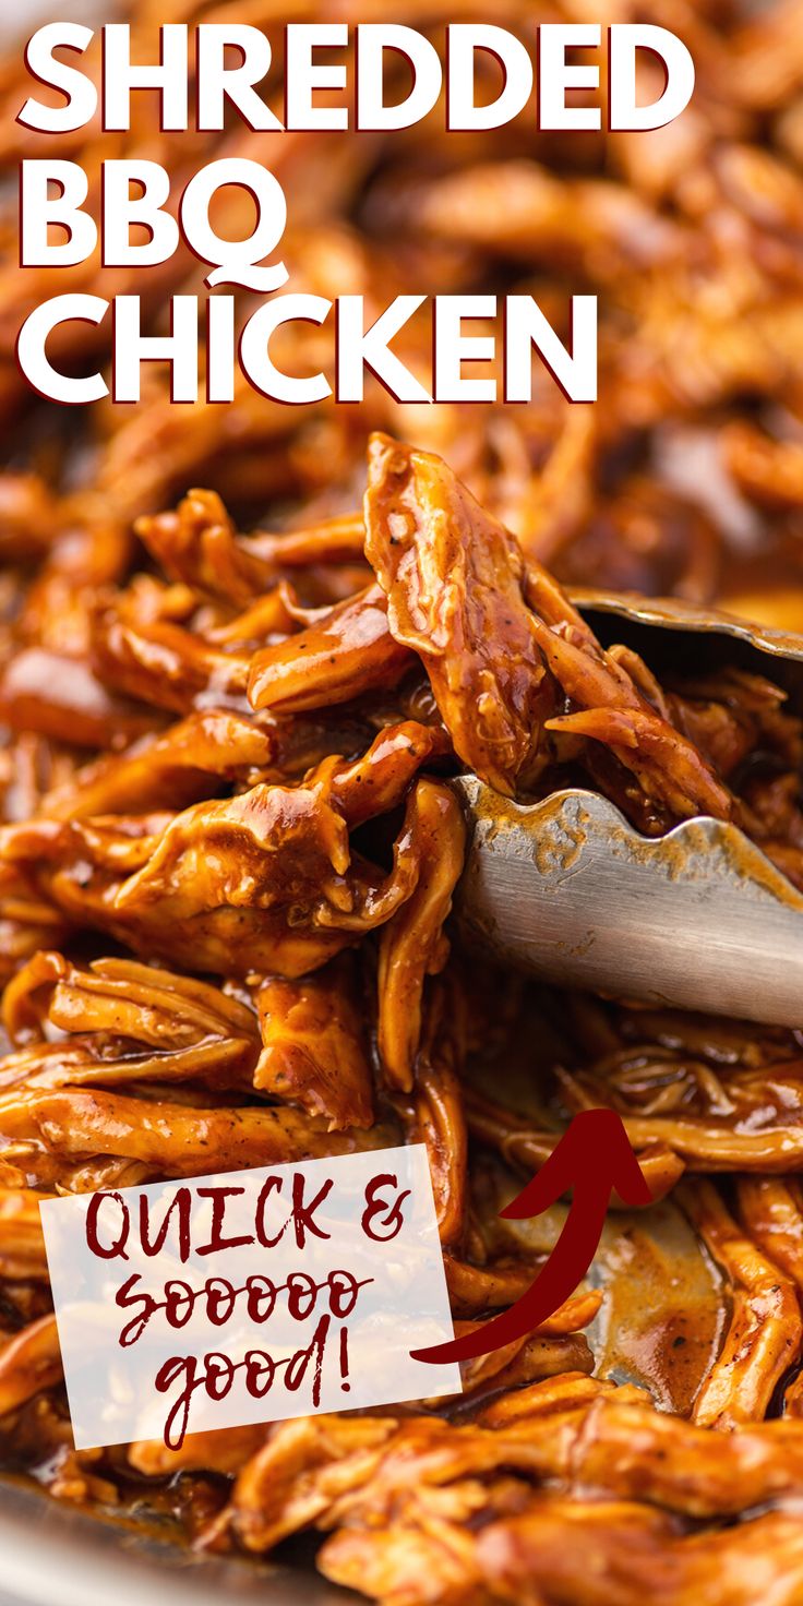
[[[803,636],[679,602],[572,601],[658,678],[662,655],[676,671],[691,649],[695,673],[764,673],[803,711]],[[475,776],[454,785],[471,821],[456,909],[472,946],[569,988],[803,1026],[803,893],[737,825],[697,817],[647,838],[596,792],[520,805]]]

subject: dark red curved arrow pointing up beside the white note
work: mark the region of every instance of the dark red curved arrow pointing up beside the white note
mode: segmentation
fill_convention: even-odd
[[[625,1204],[649,1204],[652,1193],[615,1110],[581,1110],[532,1182],[499,1211],[509,1221],[540,1216],[573,1187],[564,1230],[525,1294],[474,1333],[411,1349],[413,1360],[474,1360],[527,1338],[573,1294],[594,1259],[613,1188]]]

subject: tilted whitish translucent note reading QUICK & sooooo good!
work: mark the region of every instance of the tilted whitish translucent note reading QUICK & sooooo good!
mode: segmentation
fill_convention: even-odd
[[[40,1211],[80,1450],[461,1389],[421,1143]]]

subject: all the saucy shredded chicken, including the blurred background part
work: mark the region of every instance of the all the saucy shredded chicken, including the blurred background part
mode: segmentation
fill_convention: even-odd
[[[124,10],[143,59],[161,22],[212,14]],[[503,21],[527,32],[530,11]],[[440,50],[450,19],[426,10]],[[567,156],[527,117],[475,140],[435,116],[183,137],[135,95],[116,148],[177,183],[265,162],[294,283],[363,296],[366,328],[397,294],[512,289],[569,342],[569,287],[597,294],[596,406],[540,373],[509,408],[402,408],[371,379],[355,406],[238,381],[228,406],[177,408],[151,363],[137,406],[43,408],[8,355],[22,318],[108,281],[100,254],[69,284],[19,273],[16,185],[0,199],[2,1463],[199,1551],[289,1540],[382,1606],[803,1600],[801,1033],[538,988],[463,952],[453,920],[466,771],[519,800],[591,787],[652,837],[734,821],[803,888],[789,687],[736,650],[644,662],[565,589],[803,628],[803,11],[647,0],[638,19],[697,67],[649,137]],[[5,61],[10,175],[47,154],[14,120],[27,88]],[[100,128],[61,151],[93,206]],[[230,238],[241,204],[230,188]],[[202,271],[181,247],[116,291],[164,334]],[[103,368],[108,340],[67,324],[53,355]],[[315,371],[316,340],[296,324],[276,361]],[[422,312],[395,349],[414,369],[429,342]],[[499,1209],[594,1107],[622,1116],[654,1204],[613,1196],[589,1282],[466,1363],[459,1397],[75,1452],[42,1198],[422,1142],[474,1331],[530,1286],[567,1203]]]

